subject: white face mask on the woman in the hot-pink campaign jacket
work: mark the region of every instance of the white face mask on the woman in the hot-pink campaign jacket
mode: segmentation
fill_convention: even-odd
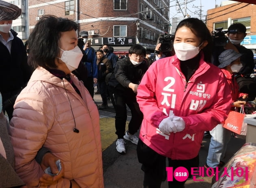
[[[202,44],[200,44],[200,46],[201,45]],[[188,43],[181,42],[174,44],[174,50],[179,60],[186,61],[188,59],[195,57],[200,52],[200,46],[196,47]]]

